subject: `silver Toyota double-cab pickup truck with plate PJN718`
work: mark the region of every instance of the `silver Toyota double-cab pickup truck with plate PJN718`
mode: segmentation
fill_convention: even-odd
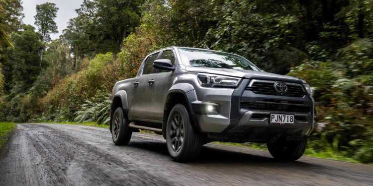
[[[110,131],[116,145],[139,129],[162,134],[179,162],[212,141],[267,143],[274,158],[297,160],[315,126],[311,94],[305,81],[238,55],[169,47],[146,56],[136,77],[115,83]]]

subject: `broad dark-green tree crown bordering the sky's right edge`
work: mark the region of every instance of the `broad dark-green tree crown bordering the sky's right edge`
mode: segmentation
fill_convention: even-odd
[[[84,0],[69,22],[64,38],[74,55],[119,52],[123,39],[140,23],[143,0]]]

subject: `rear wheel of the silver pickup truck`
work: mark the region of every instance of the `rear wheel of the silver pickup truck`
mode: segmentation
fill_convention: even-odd
[[[111,119],[111,136],[115,145],[126,145],[132,136],[132,130],[128,126],[127,116],[122,108],[116,108]]]

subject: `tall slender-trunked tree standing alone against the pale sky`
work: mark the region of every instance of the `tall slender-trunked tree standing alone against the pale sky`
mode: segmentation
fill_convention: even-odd
[[[46,2],[36,5],[35,25],[38,27],[40,41],[42,43],[50,41],[51,33],[58,33],[57,25],[54,19],[57,17],[58,7],[55,3]],[[40,62],[43,59],[44,46],[39,50]],[[41,67],[41,63],[39,63]]]

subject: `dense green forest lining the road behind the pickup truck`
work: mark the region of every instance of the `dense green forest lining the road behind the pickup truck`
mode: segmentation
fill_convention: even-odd
[[[0,121],[108,124],[111,88],[167,46],[235,53],[314,89],[309,153],[373,162],[373,0],[84,0],[59,39],[0,0]]]

